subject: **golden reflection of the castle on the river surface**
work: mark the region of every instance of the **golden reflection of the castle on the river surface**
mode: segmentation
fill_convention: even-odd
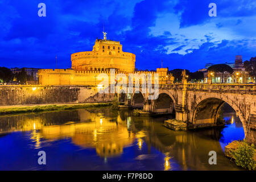
[[[134,133],[127,130],[126,122],[120,117],[110,121],[103,114],[78,110],[80,123],[68,122],[65,125],[44,126],[42,121],[31,119],[24,122],[26,130],[33,130],[32,139],[40,146],[40,138],[56,140],[71,138],[72,142],[82,148],[96,148],[101,157],[120,155],[123,147],[129,146],[135,139]],[[90,122],[88,122],[90,121]],[[30,126],[30,127],[28,127]],[[38,132],[35,132],[39,130]]]

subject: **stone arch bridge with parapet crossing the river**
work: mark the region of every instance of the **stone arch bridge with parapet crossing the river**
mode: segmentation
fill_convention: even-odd
[[[246,139],[256,144],[255,84],[166,84],[160,85],[156,100],[148,93],[133,93],[125,103],[143,107],[149,113],[174,113],[178,121],[194,126],[214,126],[221,106],[226,102],[240,117]],[[121,96],[121,94],[120,94]],[[249,126],[248,126],[249,123]]]

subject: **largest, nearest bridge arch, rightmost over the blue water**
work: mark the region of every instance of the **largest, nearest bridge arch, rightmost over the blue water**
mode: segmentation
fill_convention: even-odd
[[[192,109],[192,113],[189,115],[189,121],[194,125],[216,124],[218,114],[225,103],[236,111],[242,122],[243,129],[246,131],[246,118],[236,102],[218,93],[208,93],[198,98],[195,102],[195,108]]]

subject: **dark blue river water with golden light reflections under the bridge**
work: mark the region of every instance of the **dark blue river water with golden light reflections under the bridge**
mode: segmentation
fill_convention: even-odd
[[[225,127],[172,131],[162,117],[130,110],[77,109],[0,117],[1,170],[241,170],[224,147],[243,139],[236,113]],[[38,152],[46,152],[46,165]],[[210,165],[209,151],[217,152]]]

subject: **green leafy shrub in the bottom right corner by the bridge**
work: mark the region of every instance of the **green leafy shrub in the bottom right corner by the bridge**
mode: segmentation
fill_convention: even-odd
[[[241,166],[243,168],[247,168],[249,170],[253,170],[255,168],[255,160],[254,160],[254,145],[243,142],[239,144],[239,146],[232,153],[233,158],[236,161],[237,166]]]

